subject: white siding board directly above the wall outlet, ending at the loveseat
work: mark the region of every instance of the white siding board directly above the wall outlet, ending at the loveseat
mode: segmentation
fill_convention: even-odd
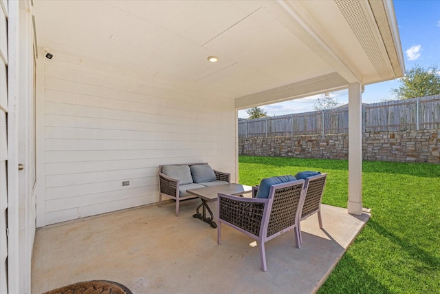
[[[142,178],[154,176],[157,179],[157,173],[159,172],[159,167],[148,167],[144,169],[128,169],[124,171],[98,171],[91,173],[80,173],[80,174],[57,174],[52,176],[46,176],[45,186],[46,189],[52,187],[63,187],[70,185],[84,185],[91,184],[94,182],[105,182],[105,181],[121,181],[132,179],[132,178]]]

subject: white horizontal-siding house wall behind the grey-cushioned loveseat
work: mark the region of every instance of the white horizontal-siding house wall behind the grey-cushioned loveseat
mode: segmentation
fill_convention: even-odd
[[[232,99],[56,52],[40,59],[39,226],[157,202],[159,165],[209,162],[235,179]],[[124,180],[130,185],[122,187]]]

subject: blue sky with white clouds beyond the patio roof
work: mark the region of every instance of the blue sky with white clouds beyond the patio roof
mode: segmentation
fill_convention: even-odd
[[[394,0],[394,9],[399,27],[401,50],[406,70],[415,65],[440,69],[440,0]],[[386,81],[366,85],[362,103],[376,103],[393,99],[390,90],[399,87],[399,81]],[[281,116],[314,111],[318,96],[296,99],[272,105],[261,106],[268,116]],[[349,101],[348,91],[332,92],[338,103]],[[240,118],[248,118],[245,110],[239,110]]]

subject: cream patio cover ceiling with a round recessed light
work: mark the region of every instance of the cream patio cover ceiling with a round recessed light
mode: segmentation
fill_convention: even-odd
[[[397,78],[391,1],[34,1],[41,47],[237,108]],[[208,56],[219,56],[210,63]]]

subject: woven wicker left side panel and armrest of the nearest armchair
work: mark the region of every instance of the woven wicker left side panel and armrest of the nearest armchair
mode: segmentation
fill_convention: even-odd
[[[242,231],[259,236],[269,199],[217,195],[219,222],[227,222]]]

